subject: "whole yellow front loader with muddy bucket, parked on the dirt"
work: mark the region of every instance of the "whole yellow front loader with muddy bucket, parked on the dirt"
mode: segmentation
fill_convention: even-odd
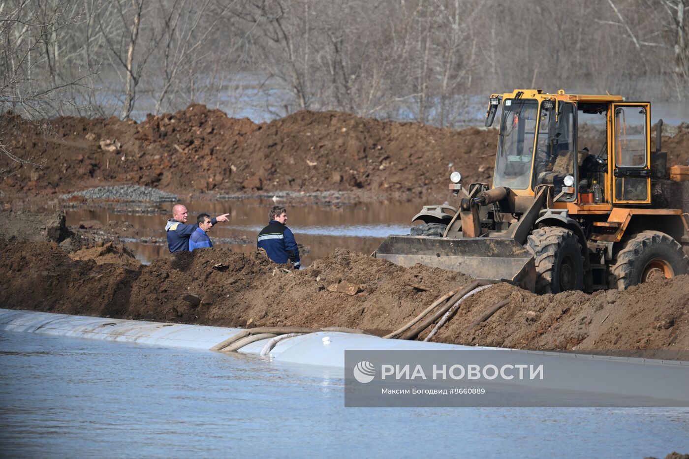
[[[498,110],[492,186],[464,187],[453,172],[456,206],[424,206],[413,218],[422,225],[389,236],[374,256],[539,293],[624,289],[689,272],[689,214],[652,193],[668,167],[662,120],[651,150],[650,103],[515,90],[491,95],[486,126]]]

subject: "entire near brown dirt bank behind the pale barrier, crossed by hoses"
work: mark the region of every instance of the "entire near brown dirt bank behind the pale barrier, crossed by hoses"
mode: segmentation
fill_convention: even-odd
[[[199,249],[135,269],[72,260],[54,243],[0,240],[3,307],[227,327],[341,326],[387,334],[472,279],[337,249],[289,272],[263,252]],[[80,257],[81,258],[81,257]],[[96,257],[97,258],[97,257]],[[520,349],[689,349],[689,276],[587,295],[497,284],[433,341]],[[501,300],[508,304],[484,318]],[[420,338],[428,331],[421,334]]]

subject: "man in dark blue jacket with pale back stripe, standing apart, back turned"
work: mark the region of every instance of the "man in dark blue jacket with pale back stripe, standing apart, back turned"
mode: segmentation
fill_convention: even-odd
[[[258,233],[258,248],[265,249],[268,258],[275,263],[284,264],[289,260],[299,269],[299,247],[294,240],[294,234],[285,225],[287,210],[281,205],[274,205],[268,211],[268,217],[270,223]]]

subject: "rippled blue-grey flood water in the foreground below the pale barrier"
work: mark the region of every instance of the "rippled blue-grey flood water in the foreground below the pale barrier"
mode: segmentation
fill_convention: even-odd
[[[689,451],[688,409],[345,408],[341,370],[213,351],[0,331],[0,369],[0,457]]]

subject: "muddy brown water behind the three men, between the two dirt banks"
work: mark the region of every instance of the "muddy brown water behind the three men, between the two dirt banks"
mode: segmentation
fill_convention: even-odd
[[[243,253],[256,249],[256,236],[267,225],[268,209],[275,204],[271,199],[264,198],[186,203],[189,223],[200,212],[212,216],[229,214],[230,221],[218,223],[209,236],[214,247],[229,247]],[[313,260],[327,256],[336,247],[370,254],[389,234],[409,234],[409,228],[413,226],[411,218],[421,210],[423,204],[398,201],[344,205],[297,202],[287,205],[287,226],[294,232],[297,243],[306,247],[306,253],[302,253],[301,258],[302,265],[307,266]],[[67,209],[65,214],[67,224],[75,226],[88,220],[97,220],[104,227],[111,221],[131,223],[136,230],[134,237],[125,234],[121,241],[134,250],[136,258],[149,263],[154,258],[169,254],[165,241],[165,222],[167,218],[172,218],[169,211],[171,206],[154,206],[156,213],[153,214],[106,209]]]

